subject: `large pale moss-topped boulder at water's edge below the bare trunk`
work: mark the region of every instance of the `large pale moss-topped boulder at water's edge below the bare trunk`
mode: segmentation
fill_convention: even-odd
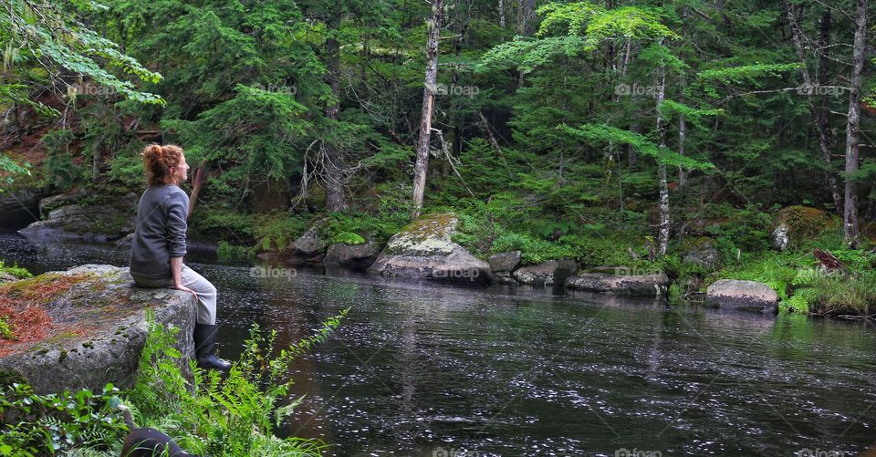
[[[451,240],[458,222],[453,213],[423,215],[392,235],[368,272],[454,283],[493,283],[490,265]]]

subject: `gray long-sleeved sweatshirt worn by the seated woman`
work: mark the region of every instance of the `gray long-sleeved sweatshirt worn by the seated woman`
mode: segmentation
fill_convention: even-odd
[[[131,275],[172,277],[171,257],[185,255],[188,212],[189,196],[177,185],[153,185],[143,192],[130,244]]]

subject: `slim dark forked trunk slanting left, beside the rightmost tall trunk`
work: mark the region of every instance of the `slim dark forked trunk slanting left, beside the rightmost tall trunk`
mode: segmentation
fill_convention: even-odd
[[[829,52],[829,48],[827,47],[827,45],[830,35],[830,13],[826,13],[826,17],[821,17],[821,27],[819,30],[819,47],[822,54],[819,61],[818,81],[813,81],[813,79],[809,77],[809,70],[806,63],[806,54],[803,47],[803,31],[802,29],[800,29],[797,17],[794,14],[794,5],[791,5],[788,0],[785,0],[785,13],[787,15],[788,25],[790,25],[791,27],[791,40],[794,42],[794,47],[797,48],[797,57],[800,60],[800,64],[802,65],[801,72],[803,76],[803,86],[809,89],[814,88],[817,85],[820,86],[825,81],[827,81],[827,68],[829,59],[827,58],[826,53]],[[814,96],[814,92],[815,91],[813,90],[812,93],[810,93],[810,98]],[[812,117],[812,123],[815,125],[815,128],[819,133],[819,152],[821,154],[821,159],[825,162],[828,168],[828,171],[825,172],[825,181],[828,182],[830,196],[833,199],[833,204],[837,207],[837,212],[842,213],[840,183],[837,182],[837,177],[833,174],[833,167],[830,163],[830,130],[828,127],[828,116],[825,112],[825,109],[819,109],[811,99],[809,100],[809,114]]]

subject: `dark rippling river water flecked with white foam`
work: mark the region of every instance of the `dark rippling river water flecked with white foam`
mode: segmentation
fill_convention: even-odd
[[[4,235],[0,258],[43,272],[126,265],[127,250]],[[336,455],[827,457],[876,441],[870,323],[186,265],[219,289],[226,358],[253,323],[287,344],[351,308],[297,361],[293,393],[305,397],[279,431]]]

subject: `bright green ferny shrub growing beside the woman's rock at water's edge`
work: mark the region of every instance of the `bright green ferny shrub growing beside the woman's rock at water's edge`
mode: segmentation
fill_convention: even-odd
[[[141,426],[167,433],[189,452],[214,456],[319,455],[321,441],[277,438],[273,431],[297,406],[277,403],[287,399],[292,380],[282,380],[289,364],[324,342],[340,325],[347,310],[329,318],[313,336],[279,351],[276,331],[267,337],[254,325],[241,354],[227,374],[204,372],[190,360],[190,386],[175,359],[182,357],[170,345],[178,329],[166,329],[149,318],[150,332],[143,348],[140,375],[128,400]]]

